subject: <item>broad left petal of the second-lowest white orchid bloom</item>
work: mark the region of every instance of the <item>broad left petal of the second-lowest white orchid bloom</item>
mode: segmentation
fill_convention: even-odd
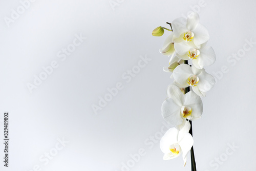
[[[168,98],[164,100],[162,104],[162,116],[163,118],[172,125],[182,124],[185,118],[181,117],[180,106],[178,106],[173,99]]]

